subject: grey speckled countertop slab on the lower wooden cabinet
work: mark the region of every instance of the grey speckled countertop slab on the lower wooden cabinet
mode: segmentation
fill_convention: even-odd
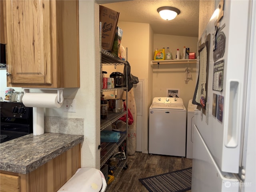
[[[84,136],[58,133],[28,134],[0,144],[0,169],[27,174],[82,143]]]

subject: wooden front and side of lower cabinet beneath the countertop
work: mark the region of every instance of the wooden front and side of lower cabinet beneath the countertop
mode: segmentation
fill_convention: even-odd
[[[1,171],[1,192],[56,192],[81,167],[81,144],[28,174]]]

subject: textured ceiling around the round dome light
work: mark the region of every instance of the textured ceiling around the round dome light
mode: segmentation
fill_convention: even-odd
[[[199,0],[132,0],[102,5],[120,12],[119,21],[150,24],[155,34],[198,37]],[[162,6],[178,8],[180,14],[174,20],[163,20],[157,12]]]

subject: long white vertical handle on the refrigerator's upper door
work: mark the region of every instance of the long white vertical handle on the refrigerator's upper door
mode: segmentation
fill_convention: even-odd
[[[236,148],[238,146],[239,138],[239,122],[240,122],[240,83],[239,80],[229,80],[229,88],[226,101],[228,106],[226,108],[227,115],[224,117],[227,122],[224,126],[224,139],[227,148]]]

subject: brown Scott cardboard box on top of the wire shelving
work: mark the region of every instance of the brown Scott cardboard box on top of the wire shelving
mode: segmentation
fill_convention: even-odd
[[[100,22],[102,22],[102,48],[111,51],[116,26],[119,18],[119,12],[100,5]]]

